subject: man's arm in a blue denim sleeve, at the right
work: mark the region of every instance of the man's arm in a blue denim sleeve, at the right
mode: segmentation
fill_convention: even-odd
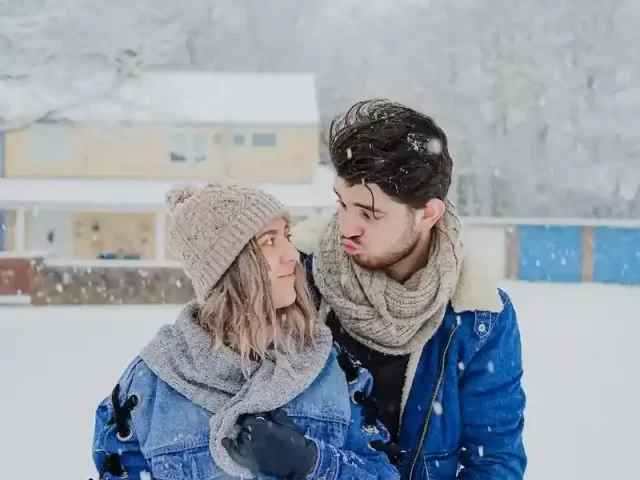
[[[509,296],[502,291],[500,296],[504,310],[460,381],[460,479],[520,480],[527,465],[520,331]]]

